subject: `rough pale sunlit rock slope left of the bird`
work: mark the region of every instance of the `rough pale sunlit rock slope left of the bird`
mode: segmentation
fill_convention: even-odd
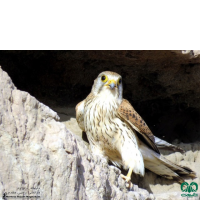
[[[93,156],[58,120],[0,68],[0,197],[154,199],[136,185],[127,191],[120,170]]]

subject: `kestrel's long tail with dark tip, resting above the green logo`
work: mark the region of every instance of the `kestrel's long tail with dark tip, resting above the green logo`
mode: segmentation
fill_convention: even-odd
[[[140,150],[144,158],[145,168],[155,174],[171,180],[176,180],[179,183],[184,182],[182,176],[196,178],[196,173],[190,168],[172,163],[162,155],[149,149],[147,146],[142,145]]]

